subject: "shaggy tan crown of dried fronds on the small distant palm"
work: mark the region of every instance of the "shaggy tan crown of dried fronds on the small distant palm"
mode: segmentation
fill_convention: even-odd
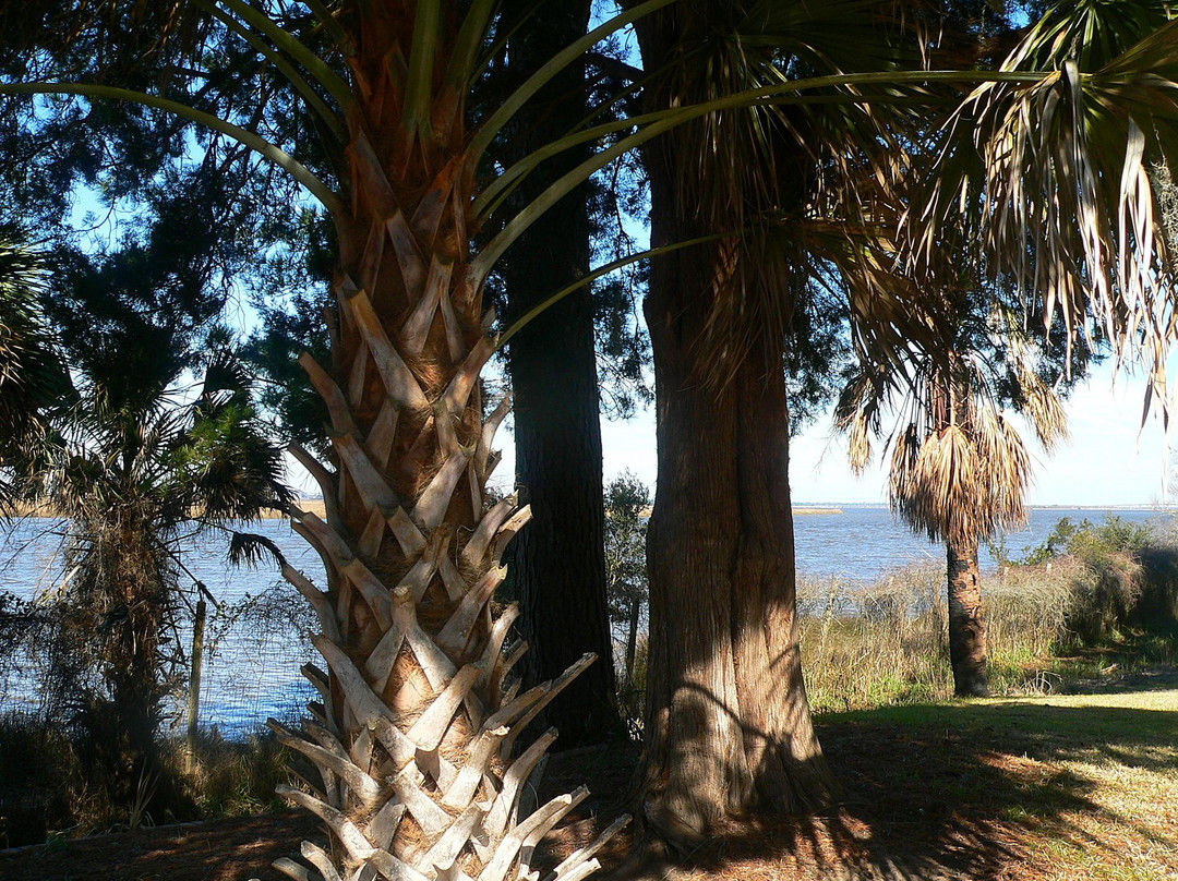
[[[919,338],[939,339],[940,350],[911,345],[899,376],[861,364],[843,389],[835,429],[849,436],[851,464],[860,470],[868,435],[881,437],[884,411],[893,411],[896,426],[884,443],[892,448],[893,512],[931,541],[968,547],[1026,518],[1031,458],[999,402],[1024,412],[1048,450],[1066,436],[1066,418],[1058,390],[1038,372],[1039,347],[1011,313],[981,322],[981,292],[926,293],[926,305],[934,299],[940,307],[928,310]]]

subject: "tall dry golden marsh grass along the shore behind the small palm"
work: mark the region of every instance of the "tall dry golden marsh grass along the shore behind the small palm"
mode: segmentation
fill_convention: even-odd
[[[1178,547],[1116,521],[1081,524],[1068,551],[984,575],[990,682],[997,695],[1067,691],[1178,657]],[[818,713],[946,700],[945,568],[896,570],[874,585],[802,578],[802,669]]]

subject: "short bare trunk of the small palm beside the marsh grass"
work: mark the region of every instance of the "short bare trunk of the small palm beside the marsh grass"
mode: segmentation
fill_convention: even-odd
[[[949,662],[958,697],[990,694],[986,675],[986,620],[981,608],[978,543],[945,543],[949,590]]]

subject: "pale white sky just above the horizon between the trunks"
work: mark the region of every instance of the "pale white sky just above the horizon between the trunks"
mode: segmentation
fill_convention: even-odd
[[[1097,367],[1088,382],[1078,386],[1068,399],[1071,439],[1052,457],[1032,442],[1035,483],[1030,504],[1100,508],[1160,503],[1163,466],[1167,459],[1165,433],[1156,413],[1141,429],[1144,395],[1143,377],[1121,375],[1113,383],[1110,367]],[[886,503],[886,469],[876,464],[861,477],[852,475],[846,444],[830,438],[829,424],[828,417],[820,417],[789,444],[794,503]],[[1030,436],[1024,431],[1024,437]],[[499,430],[496,440],[503,451],[503,462],[492,479],[501,489],[509,490],[515,472],[509,424]],[[607,482],[629,470],[654,486],[653,408],[629,420],[602,420],[602,446]]]

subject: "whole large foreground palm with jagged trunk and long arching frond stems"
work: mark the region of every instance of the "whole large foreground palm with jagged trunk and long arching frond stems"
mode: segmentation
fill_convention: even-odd
[[[179,90],[193,102],[206,93],[201,65],[216,64],[217,41],[249,41],[316,118],[327,157],[322,170],[335,175],[335,188],[254,131],[174,100],[176,92],[27,86],[154,105],[207,125],[290,171],[332,218],[339,253],[331,363],[300,360],[330,413],[333,461],[292,448],[323,489],[326,521],[290,509],[294,529],[323,557],[326,584],[282,564],[319,615],[316,644],[329,671],[304,668],[322,701],[302,733],[272,722],[318,769],[306,789],[283,791],[331,832],[332,853],[303,846],[324,877],[372,869],[412,879],[530,876],[538,840],[587,795],[581,789],[530,814],[523,807],[556,733],[517,754],[519,736],[593,657],[523,691],[512,674],[525,649],[507,643],[518,608],[496,614],[491,598],[505,574],[503,550],[529,511],[515,496],[492,503],[485,492],[508,402],[485,402],[479,375],[496,347],[494,314],[482,305],[491,266],[591,168],[562,177],[481,252],[470,243],[524,177],[482,177],[496,134],[554,69],[609,28],[558,54],[471,131],[465,100],[494,7],[388,0],[330,11],[310,2],[309,15],[285,24],[304,26],[326,60],[243,0],[183,6],[158,19],[150,8],[127,12],[174,38],[147,47],[157,55],[134,46],[144,58],[176,60],[167,53],[185,37],[210,49],[167,68],[173,88],[179,72],[197,72],[188,91]],[[84,27],[111,24],[101,4],[81,12]],[[283,18],[284,8],[272,12]],[[138,39],[144,24],[135,24]],[[570,857],[560,876],[588,874],[597,846]],[[289,861],[280,867],[306,876]]]

